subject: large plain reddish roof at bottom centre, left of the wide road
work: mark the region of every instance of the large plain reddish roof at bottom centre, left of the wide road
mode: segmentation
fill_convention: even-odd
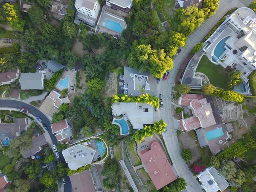
[[[159,142],[153,140],[150,150],[141,154],[141,160],[157,190],[176,180],[172,166]]]

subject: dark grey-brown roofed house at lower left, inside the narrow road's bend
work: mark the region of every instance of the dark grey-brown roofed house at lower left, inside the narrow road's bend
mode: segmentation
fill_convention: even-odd
[[[34,134],[32,136],[32,142],[33,142],[33,147],[30,148],[28,151],[23,151],[22,156],[24,158],[31,157],[32,155],[35,155],[39,151],[43,149],[44,145],[47,145],[47,140],[44,137],[44,134],[39,135],[38,133]]]

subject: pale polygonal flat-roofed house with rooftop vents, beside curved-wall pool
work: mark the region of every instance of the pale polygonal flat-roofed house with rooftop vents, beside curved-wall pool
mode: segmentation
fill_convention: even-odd
[[[71,170],[86,166],[92,163],[95,150],[88,146],[77,144],[62,151],[64,159]]]

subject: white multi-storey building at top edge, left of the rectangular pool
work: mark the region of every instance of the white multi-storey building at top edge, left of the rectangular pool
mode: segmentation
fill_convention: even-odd
[[[97,19],[100,5],[97,0],[76,0],[75,7],[77,12]]]

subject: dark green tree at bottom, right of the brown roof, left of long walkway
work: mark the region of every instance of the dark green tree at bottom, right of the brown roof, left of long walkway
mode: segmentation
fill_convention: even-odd
[[[103,186],[108,189],[113,189],[119,183],[118,172],[119,166],[115,160],[108,160],[102,169],[101,175],[105,176],[103,179]]]

